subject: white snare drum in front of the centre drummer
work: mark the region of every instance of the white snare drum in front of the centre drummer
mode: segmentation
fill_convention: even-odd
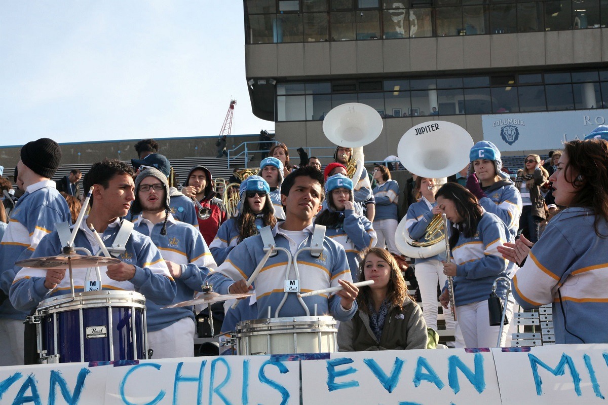
[[[336,320],[331,316],[244,320],[235,334],[238,355],[333,353],[336,336]]]

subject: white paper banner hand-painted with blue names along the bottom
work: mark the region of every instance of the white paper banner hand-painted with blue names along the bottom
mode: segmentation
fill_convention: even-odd
[[[608,345],[0,367],[3,405],[297,405],[300,394],[311,405],[603,404]]]

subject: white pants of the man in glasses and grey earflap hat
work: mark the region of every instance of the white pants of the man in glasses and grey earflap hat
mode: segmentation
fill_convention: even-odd
[[[148,346],[153,359],[194,357],[196,325],[190,317],[182,318],[166,328],[148,332]]]

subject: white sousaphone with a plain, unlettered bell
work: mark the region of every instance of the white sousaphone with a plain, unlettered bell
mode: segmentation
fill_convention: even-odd
[[[334,107],[323,120],[323,133],[333,144],[353,148],[351,161],[356,162],[357,168],[351,176],[354,189],[363,173],[365,156],[363,147],[371,144],[382,133],[382,117],[373,107],[361,103],[346,103]],[[371,190],[368,178],[364,185]]]

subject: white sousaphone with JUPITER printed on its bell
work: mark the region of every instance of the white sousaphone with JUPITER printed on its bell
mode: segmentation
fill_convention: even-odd
[[[472,147],[473,139],[465,128],[447,121],[427,121],[403,134],[397,155],[410,173],[440,179],[454,175],[468,165]],[[395,245],[399,252],[407,257],[425,258],[438,255],[445,249],[442,243],[414,246],[413,242],[404,216],[395,232]]]

